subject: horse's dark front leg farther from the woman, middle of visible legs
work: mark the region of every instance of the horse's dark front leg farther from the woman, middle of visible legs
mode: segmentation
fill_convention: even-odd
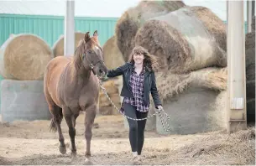
[[[67,126],[69,127],[69,135],[71,137],[71,156],[76,157],[76,143],[75,143],[75,137],[76,137],[76,117],[79,116],[79,112],[72,112],[71,108],[67,106],[63,106],[63,114],[65,117],[65,122]]]

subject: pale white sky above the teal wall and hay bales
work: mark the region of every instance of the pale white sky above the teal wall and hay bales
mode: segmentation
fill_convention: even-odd
[[[75,16],[120,17],[128,8],[136,6],[140,0],[76,0]],[[227,20],[226,1],[183,0],[189,6],[210,8],[222,20]],[[0,0],[0,13],[65,15],[65,0]],[[246,20],[246,3],[244,3]]]

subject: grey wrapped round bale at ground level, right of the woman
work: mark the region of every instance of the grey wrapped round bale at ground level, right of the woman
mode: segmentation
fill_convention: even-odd
[[[225,101],[226,91],[190,87],[163,105],[171,116],[170,132],[165,132],[159,116],[156,117],[156,130],[160,134],[194,134],[225,129]]]

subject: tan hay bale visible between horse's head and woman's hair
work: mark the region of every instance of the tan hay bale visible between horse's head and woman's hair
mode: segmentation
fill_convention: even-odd
[[[108,39],[103,45],[103,60],[107,66],[107,69],[116,69],[121,65],[124,65],[123,55],[118,49],[116,37]]]

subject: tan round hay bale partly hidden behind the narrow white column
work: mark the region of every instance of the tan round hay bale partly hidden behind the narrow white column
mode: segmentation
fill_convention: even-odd
[[[85,34],[81,32],[75,33],[75,48],[78,46],[81,39],[84,39]],[[64,35],[61,35],[57,41],[55,41],[55,44],[52,47],[52,50],[54,52],[54,56],[63,56],[64,55]]]

